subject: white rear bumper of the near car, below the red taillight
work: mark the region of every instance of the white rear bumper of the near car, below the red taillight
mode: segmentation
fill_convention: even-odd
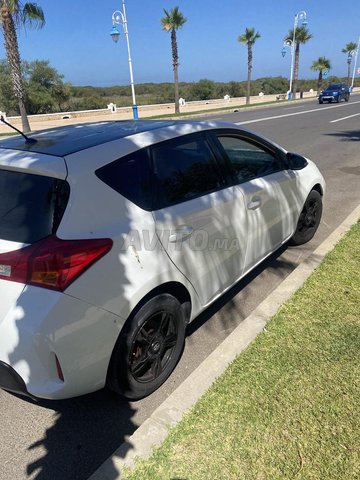
[[[16,301],[1,309],[1,360],[12,365],[28,392],[61,399],[102,388],[124,320],[63,293],[13,285]]]

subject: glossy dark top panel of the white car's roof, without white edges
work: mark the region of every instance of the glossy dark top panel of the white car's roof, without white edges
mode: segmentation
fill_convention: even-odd
[[[64,157],[113,140],[142,132],[171,127],[179,123],[190,122],[120,120],[68,125],[30,134],[29,136],[31,138],[36,139],[36,143],[26,143],[22,136],[14,136],[1,140],[0,149],[21,150]]]

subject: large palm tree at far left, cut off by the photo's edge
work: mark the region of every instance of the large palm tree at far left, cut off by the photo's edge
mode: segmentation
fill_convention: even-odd
[[[24,102],[24,85],[16,29],[21,25],[42,28],[45,17],[36,3],[21,3],[19,0],[0,0],[0,25],[10,66],[14,95],[17,99],[24,132],[30,131]]]

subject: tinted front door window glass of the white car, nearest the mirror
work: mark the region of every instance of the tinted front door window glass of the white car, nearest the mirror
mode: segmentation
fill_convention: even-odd
[[[265,148],[230,135],[217,136],[231,163],[237,183],[281,170],[276,155]]]

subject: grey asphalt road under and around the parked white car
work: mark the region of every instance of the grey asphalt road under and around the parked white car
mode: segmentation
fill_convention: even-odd
[[[316,237],[282,248],[188,329],[182,360],[167,383],[140,402],[100,391],[34,404],[0,391],[0,479],[85,480],[186,376],[360,203],[360,95],[349,103],[281,103],[209,116],[243,123],[314,160],[327,182]]]

